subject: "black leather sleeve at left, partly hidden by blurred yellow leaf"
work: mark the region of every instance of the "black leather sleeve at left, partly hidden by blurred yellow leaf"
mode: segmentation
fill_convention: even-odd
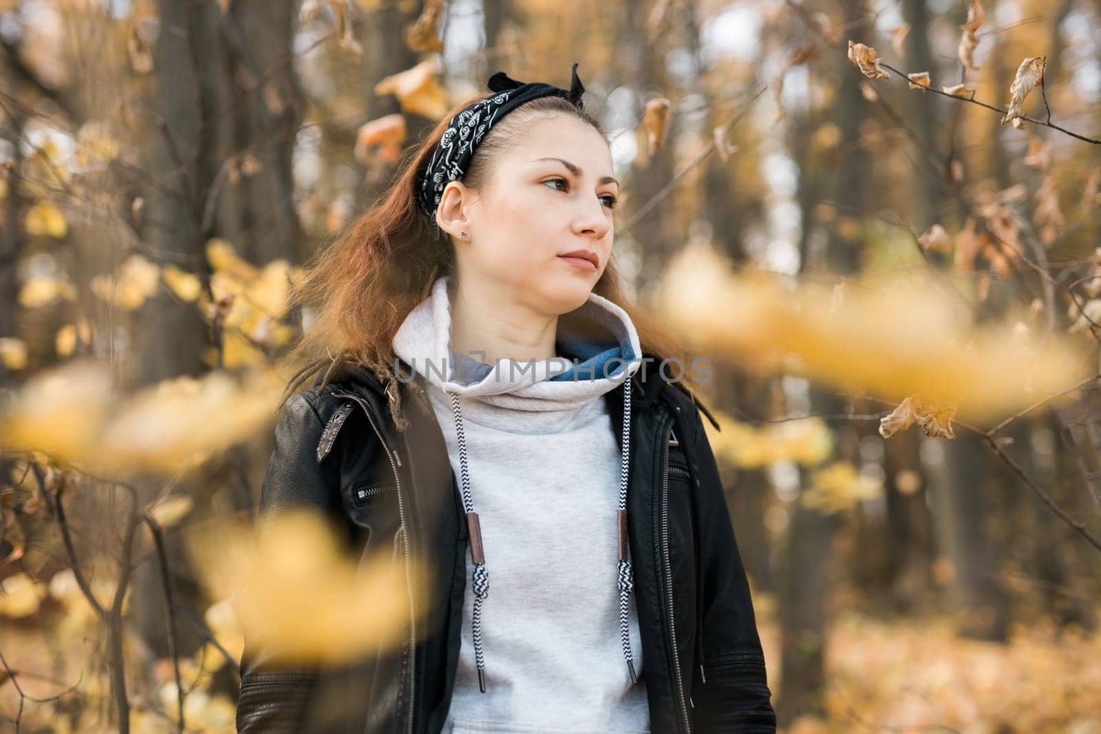
[[[275,448],[260,492],[261,516],[287,510],[338,516],[339,469],[334,461],[318,463],[316,456],[324,427],[308,393],[298,393],[283,405],[275,428]],[[237,731],[301,731],[317,679],[318,670],[313,667],[268,664],[263,650],[250,645],[246,631]]]

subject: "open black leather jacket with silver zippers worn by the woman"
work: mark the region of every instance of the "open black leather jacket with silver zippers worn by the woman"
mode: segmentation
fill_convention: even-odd
[[[351,366],[330,380],[284,405],[261,512],[313,507],[360,557],[427,559],[428,609],[415,610],[400,649],[356,665],[276,668],[247,639],[238,731],[439,732],[468,552],[444,436],[419,376],[399,383],[410,423],[402,432],[371,372]],[[697,406],[707,410],[656,370],[632,380],[628,517],[651,731],[775,732],[750,590]],[[622,395],[603,396],[615,436]]]

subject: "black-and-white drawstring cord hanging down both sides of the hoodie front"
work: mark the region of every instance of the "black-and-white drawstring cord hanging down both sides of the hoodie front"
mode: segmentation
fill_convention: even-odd
[[[462,510],[467,515],[467,530],[470,535],[470,559],[473,561],[473,592],[475,605],[471,615],[471,636],[475,642],[475,664],[478,666],[478,688],[486,692],[486,656],[482,649],[481,638],[481,605],[489,596],[489,570],[486,568],[486,552],[482,547],[481,525],[478,523],[478,513],[475,512],[473,500],[470,497],[470,473],[467,469],[467,438],[462,430],[462,410],[459,407],[459,396],[448,393],[451,398],[451,409],[455,413],[455,430],[459,441],[459,468],[462,474],[460,490],[462,493]],[[631,655],[631,624],[630,603],[631,592],[634,589],[634,573],[631,569],[630,548],[628,544],[626,527],[626,490],[628,476],[631,467],[631,377],[623,381],[623,439],[620,447],[621,471],[620,491],[617,505],[617,519],[619,525],[619,562],[615,568],[615,585],[620,596],[620,639],[623,643],[623,657],[626,659],[626,669],[631,673],[631,684],[639,682],[639,677],[634,671],[634,658]]]

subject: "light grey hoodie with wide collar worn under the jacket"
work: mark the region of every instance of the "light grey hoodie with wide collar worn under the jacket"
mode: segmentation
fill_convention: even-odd
[[[622,308],[589,294],[558,319],[559,357],[486,364],[451,349],[449,281],[436,281],[393,342],[426,377],[471,528],[444,731],[648,732],[618,537],[639,335]],[[601,398],[615,388],[620,437]]]

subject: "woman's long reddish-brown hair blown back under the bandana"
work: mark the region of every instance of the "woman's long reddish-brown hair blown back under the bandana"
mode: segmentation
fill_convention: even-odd
[[[303,365],[291,377],[285,401],[310,375],[325,369],[319,384],[328,382],[341,364],[371,370],[386,385],[394,424],[404,429],[401,398],[394,380],[394,335],[405,317],[428,297],[442,275],[455,274],[455,249],[450,235],[433,232],[432,222],[417,206],[416,191],[433,151],[450,119],[468,105],[488,99],[488,92],[453,108],[432,133],[403,154],[397,176],[381,204],[359,215],[327,248],[306,264],[291,287],[292,308],[312,307],[315,315],[298,343],[287,354],[290,364]],[[559,97],[541,97],[497,122],[478,144],[466,186],[477,190],[492,176],[493,164],[510,141],[539,116],[571,114],[592,125],[604,139],[607,132],[591,114]],[[682,386],[693,386],[693,374],[684,348],[657,322],[630,302],[620,285],[615,258],[608,262],[593,293],[620,306],[631,317],[645,355],[679,360]],[[647,365],[647,369],[650,366]],[[687,383],[687,384],[685,384]]]

